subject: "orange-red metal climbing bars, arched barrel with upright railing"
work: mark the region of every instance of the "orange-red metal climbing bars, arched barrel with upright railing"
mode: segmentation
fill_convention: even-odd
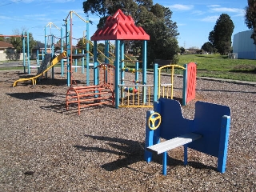
[[[106,103],[114,105],[114,66],[101,64],[97,66],[99,70],[98,82],[94,86],[73,86],[66,93],[66,110],[70,104],[78,106],[80,109],[86,106],[97,106]]]

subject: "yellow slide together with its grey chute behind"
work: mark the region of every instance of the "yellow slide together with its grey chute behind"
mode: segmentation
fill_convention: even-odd
[[[37,78],[42,78],[43,74],[46,74],[46,72],[50,69],[52,69],[58,62],[62,60],[62,58],[66,58],[66,51],[64,51],[62,54],[59,54],[58,57],[54,58],[51,62],[51,54],[46,54],[45,58],[42,60],[42,64],[38,70],[38,74],[35,75],[32,78],[20,78],[17,81],[14,82],[13,86],[17,86],[18,82],[25,82],[25,81],[31,81],[33,86],[37,83]],[[50,66],[47,68],[48,63],[50,62]]]

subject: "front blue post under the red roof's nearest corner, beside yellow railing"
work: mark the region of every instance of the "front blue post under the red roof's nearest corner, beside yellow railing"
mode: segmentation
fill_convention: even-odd
[[[120,40],[115,41],[115,61],[114,61],[114,94],[115,94],[115,108],[118,109],[119,106],[119,83],[120,83]]]

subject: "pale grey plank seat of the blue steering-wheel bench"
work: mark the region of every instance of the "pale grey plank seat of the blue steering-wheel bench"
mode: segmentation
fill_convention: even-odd
[[[162,154],[167,150],[172,150],[178,146],[183,146],[189,142],[193,142],[194,140],[197,140],[198,138],[202,138],[202,135],[194,134],[194,133],[182,134],[177,138],[172,138],[165,142],[160,142],[158,144],[155,144],[154,146],[149,146],[146,149],[152,152],[157,152],[158,154]]]

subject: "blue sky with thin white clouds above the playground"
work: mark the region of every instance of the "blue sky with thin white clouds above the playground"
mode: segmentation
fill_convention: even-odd
[[[84,0],[1,0],[0,34],[10,35],[25,29],[33,34],[34,40],[44,42],[44,27],[50,22],[58,28],[63,27],[63,19],[67,18],[71,10],[86,19],[82,2]],[[214,29],[221,14],[230,15],[234,22],[234,34],[248,30],[244,24],[244,8],[247,6],[247,0],[153,0],[153,2],[169,7],[173,11],[172,20],[177,22],[180,33],[178,43],[185,48],[201,48],[204,42],[208,42],[208,35]],[[86,22],[73,15],[73,38],[82,38],[86,30]],[[89,31],[92,36],[99,18],[89,15],[89,19],[94,22],[90,25]],[[51,27],[48,25],[46,34],[52,33],[60,37],[60,31],[54,25]]]

